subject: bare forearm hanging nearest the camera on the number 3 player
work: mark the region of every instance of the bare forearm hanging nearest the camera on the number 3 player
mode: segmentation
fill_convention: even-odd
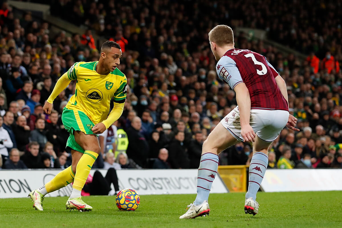
[[[251,98],[247,87],[236,93],[236,102],[239,107],[241,127],[249,125]]]

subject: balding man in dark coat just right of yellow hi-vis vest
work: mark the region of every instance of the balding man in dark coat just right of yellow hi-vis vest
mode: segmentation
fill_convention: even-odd
[[[131,125],[132,126],[126,131],[129,141],[127,155],[133,159],[137,165],[145,167],[149,148],[145,137],[140,133],[141,119],[137,116],[134,117]]]

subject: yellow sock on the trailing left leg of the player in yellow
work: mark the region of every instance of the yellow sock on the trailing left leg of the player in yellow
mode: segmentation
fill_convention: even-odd
[[[52,193],[68,184],[72,183],[75,178],[75,173],[73,173],[73,169],[71,166],[66,168],[65,170],[59,172],[51,181],[45,184],[45,188],[48,193]]]

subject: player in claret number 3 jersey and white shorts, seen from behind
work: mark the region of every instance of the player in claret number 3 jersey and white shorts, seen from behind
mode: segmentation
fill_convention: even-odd
[[[247,49],[234,48],[233,30],[218,25],[209,32],[211,51],[218,61],[217,74],[234,89],[238,106],[226,115],[203,143],[198,168],[197,197],[180,218],[209,214],[208,197],[217,174],[219,156],[239,141],[253,143],[245,213],[257,214],[256,199],[268,163],[268,147],[286,126],[295,128],[289,115],[285,81],[266,58]]]

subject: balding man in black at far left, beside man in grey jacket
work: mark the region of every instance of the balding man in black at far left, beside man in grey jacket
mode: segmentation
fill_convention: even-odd
[[[13,127],[13,133],[18,150],[21,152],[25,151],[26,145],[29,143],[30,127],[27,125],[24,115],[18,117],[16,125]]]

